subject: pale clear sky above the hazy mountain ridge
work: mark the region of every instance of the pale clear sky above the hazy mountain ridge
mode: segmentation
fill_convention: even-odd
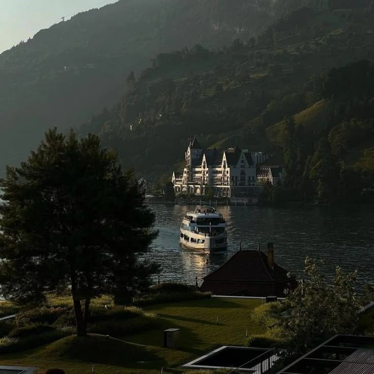
[[[73,15],[115,0],[0,0],[0,53]]]

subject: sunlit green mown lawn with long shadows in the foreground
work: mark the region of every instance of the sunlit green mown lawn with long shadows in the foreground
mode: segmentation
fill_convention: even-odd
[[[175,372],[179,365],[215,347],[243,345],[246,329],[250,334],[261,333],[261,326],[251,321],[251,310],[260,304],[259,300],[212,298],[151,305],[145,309],[157,314],[157,328],[118,336],[121,341],[70,336],[31,351],[3,354],[0,363],[42,370],[61,367],[66,374],[91,373],[93,364],[97,374],[156,374],[161,367]],[[162,347],[166,328],[181,329],[178,350]]]

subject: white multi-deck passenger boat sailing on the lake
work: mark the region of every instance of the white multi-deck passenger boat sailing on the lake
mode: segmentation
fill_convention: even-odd
[[[180,226],[180,244],[203,253],[221,252],[227,248],[226,221],[210,206],[188,212]]]

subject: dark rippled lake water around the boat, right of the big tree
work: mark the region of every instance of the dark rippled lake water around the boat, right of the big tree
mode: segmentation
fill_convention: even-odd
[[[374,284],[374,211],[370,207],[329,206],[300,209],[222,206],[228,222],[229,247],[225,254],[196,254],[179,247],[179,227],[185,212],[195,206],[151,205],[156,214],[160,235],[152,244],[146,259],[161,265],[162,281],[195,284],[208,271],[220,267],[241,240],[243,249],[266,250],[268,241],[274,243],[275,261],[293,273],[300,274],[306,256],[325,259],[333,270],[359,271],[358,290],[365,283]],[[200,281],[201,283],[201,281]]]

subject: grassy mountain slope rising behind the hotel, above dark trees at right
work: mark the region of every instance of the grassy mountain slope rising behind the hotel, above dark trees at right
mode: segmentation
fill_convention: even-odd
[[[313,76],[374,58],[371,19],[365,8],[303,8],[256,41],[159,54],[130,79],[114,109],[94,116],[82,133],[100,133],[124,166],[148,177],[179,161],[191,135],[205,146],[224,147],[239,138],[254,150],[273,152],[281,121],[291,115],[320,134],[329,120],[329,97],[313,86]]]

